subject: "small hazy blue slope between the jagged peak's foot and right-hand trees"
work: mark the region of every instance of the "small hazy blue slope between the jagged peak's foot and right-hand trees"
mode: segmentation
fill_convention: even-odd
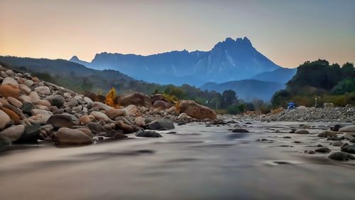
[[[268,82],[288,83],[296,74],[297,68],[277,68],[271,72],[263,72],[253,76],[253,79]]]

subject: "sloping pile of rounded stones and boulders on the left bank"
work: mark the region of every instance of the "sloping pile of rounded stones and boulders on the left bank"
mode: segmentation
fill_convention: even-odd
[[[163,95],[120,95],[117,99],[122,106],[109,107],[1,65],[0,83],[0,145],[38,140],[92,144],[107,138],[124,139],[133,132],[138,137],[157,137],[161,135],[144,130],[173,129],[173,121],[216,119],[208,107],[189,101],[182,102],[183,110],[178,110]]]

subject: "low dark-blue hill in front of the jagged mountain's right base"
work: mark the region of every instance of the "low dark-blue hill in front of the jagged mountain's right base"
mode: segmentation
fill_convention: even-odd
[[[206,83],[201,90],[216,91],[222,93],[224,90],[234,90],[239,98],[251,101],[260,99],[269,102],[273,94],[285,88],[282,83],[266,82],[261,80],[234,80],[226,83]]]

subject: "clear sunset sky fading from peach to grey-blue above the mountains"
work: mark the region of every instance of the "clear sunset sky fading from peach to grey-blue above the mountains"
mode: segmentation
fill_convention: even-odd
[[[0,0],[0,55],[32,58],[96,53],[209,51],[248,37],[274,63],[355,62],[352,0]]]

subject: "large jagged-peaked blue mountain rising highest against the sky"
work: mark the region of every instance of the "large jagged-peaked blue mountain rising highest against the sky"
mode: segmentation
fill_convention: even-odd
[[[150,56],[104,52],[97,53],[91,62],[84,62],[77,56],[70,61],[88,68],[119,70],[150,83],[175,85],[250,79],[280,68],[259,53],[246,37],[226,38],[211,51],[171,51]]]

